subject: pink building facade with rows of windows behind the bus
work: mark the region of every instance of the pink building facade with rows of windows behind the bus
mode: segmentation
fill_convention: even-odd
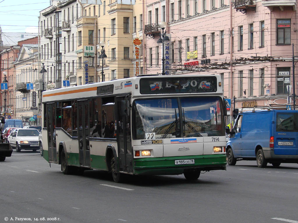
[[[156,24],[165,21],[171,75],[220,74],[224,96],[232,101],[235,96],[239,109],[293,105],[293,84],[298,93],[292,64],[293,48],[298,56],[296,5],[296,0],[147,0],[146,74],[162,72]]]

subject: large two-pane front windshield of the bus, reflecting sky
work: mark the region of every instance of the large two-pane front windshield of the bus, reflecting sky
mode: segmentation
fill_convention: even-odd
[[[179,112],[178,100],[181,111]],[[223,136],[219,97],[159,98],[134,103],[135,139]],[[183,128],[180,128],[180,118]],[[181,136],[181,131],[183,135]]]

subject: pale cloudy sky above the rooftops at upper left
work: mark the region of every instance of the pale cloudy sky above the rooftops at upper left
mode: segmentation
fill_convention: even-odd
[[[0,0],[2,32],[38,33],[39,11],[49,5],[49,0]]]

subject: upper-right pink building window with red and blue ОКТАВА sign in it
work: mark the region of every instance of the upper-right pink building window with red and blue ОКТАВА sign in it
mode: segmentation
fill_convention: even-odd
[[[277,19],[277,45],[291,44],[291,19]]]

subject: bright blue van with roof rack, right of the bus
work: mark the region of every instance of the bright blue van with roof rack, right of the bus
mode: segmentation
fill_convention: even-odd
[[[256,160],[258,167],[267,163],[298,163],[298,111],[260,110],[239,113],[233,129],[226,133],[227,163]]]

